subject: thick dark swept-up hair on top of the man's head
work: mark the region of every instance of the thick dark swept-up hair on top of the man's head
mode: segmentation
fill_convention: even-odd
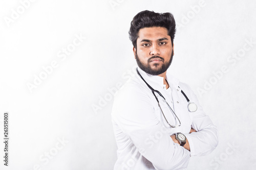
[[[129,31],[129,38],[133,43],[133,46],[137,48],[138,33],[142,28],[148,27],[164,27],[168,31],[172,45],[174,43],[174,36],[176,32],[176,23],[173,14],[156,13],[154,11],[141,11],[134,16],[131,22],[131,28]]]

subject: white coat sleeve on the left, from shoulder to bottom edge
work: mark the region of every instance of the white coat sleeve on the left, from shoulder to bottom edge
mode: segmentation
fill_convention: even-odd
[[[190,152],[163,132],[152,100],[143,89],[123,87],[115,96],[112,118],[156,169],[184,169]],[[156,102],[156,101],[154,101]]]

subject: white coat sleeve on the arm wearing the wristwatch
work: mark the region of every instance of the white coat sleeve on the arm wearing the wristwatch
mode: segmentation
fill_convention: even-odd
[[[185,86],[185,87],[184,87]],[[211,153],[218,145],[218,131],[216,126],[211,122],[208,115],[199,104],[196,94],[187,86],[183,89],[189,94],[190,102],[197,104],[197,111],[191,112],[191,127],[197,132],[185,134],[189,142],[191,156],[203,156]]]

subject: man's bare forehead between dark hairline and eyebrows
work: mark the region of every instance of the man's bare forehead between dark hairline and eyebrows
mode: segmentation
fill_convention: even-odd
[[[168,31],[164,27],[150,27],[150,28],[142,28],[138,33],[138,39],[159,39],[159,38],[167,38],[170,40],[170,36],[168,35]]]

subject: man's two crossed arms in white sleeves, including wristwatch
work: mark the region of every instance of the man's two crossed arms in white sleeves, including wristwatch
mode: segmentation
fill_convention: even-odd
[[[123,91],[119,91],[119,95],[115,96],[112,109],[113,120],[119,128],[118,135],[121,135],[121,131],[127,137],[127,142],[121,143],[121,147],[132,143],[141,155],[158,169],[185,168],[190,156],[206,155],[216,148],[217,130],[196,97],[189,96],[189,99],[198,105],[198,110],[189,113],[192,119],[191,129],[189,133],[184,134],[187,140],[183,148],[179,147],[175,135],[169,136],[163,130],[147,93],[137,86],[126,88],[124,86]],[[151,138],[158,134],[161,136],[158,136],[157,140]]]

